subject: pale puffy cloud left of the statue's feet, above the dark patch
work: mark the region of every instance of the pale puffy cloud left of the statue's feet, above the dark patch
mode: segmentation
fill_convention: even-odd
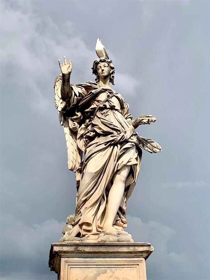
[[[39,259],[49,253],[50,244],[57,242],[63,236],[64,222],[54,219],[42,224],[27,226],[17,221],[14,215],[1,218],[4,234],[2,235],[2,257],[16,257]]]

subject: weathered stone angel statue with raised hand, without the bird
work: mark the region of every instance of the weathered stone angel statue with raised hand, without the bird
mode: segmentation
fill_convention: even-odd
[[[64,56],[59,65],[55,105],[66,137],[68,169],[76,173],[77,181],[75,214],[68,216],[59,242],[133,242],[124,231],[126,204],[138,178],[141,148],[161,152],[158,143],[139,136],[135,128],[156,119],[152,115],[132,119],[129,105],[110,86],[114,85],[114,65],[108,57],[93,62],[96,82],[71,84],[71,60],[67,62]]]

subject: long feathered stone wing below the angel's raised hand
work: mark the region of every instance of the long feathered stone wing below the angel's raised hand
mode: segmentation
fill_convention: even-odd
[[[72,121],[72,118],[69,118],[64,112],[62,112],[66,102],[61,99],[61,83],[62,74],[58,75],[54,82],[55,107],[58,110],[60,125],[63,126],[65,133],[68,169],[76,172],[82,161],[82,151],[77,147],[77,129],[75,129],[75,124]]]

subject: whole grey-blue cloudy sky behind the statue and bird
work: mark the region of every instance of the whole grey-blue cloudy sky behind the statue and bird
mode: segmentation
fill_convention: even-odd
[[[1,2],[1,279],[57,279],[50,244],[75,210],[63,128],[54,107],[58,59],[72,83],[94,81],[98,37],[115,66],[114,89],[143,151],[128,232],[150,242],[148,280],[209,279],[209,1]]]

